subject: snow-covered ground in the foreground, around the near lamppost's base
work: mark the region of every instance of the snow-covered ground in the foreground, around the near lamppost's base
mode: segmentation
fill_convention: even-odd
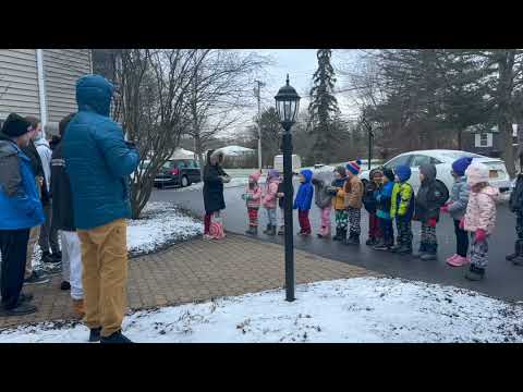
[[[479,283],[481,284],[481,283]],[[135,342],[523,342],[523,306],[451,286],[356,278],[134,313]],[[86,327],[46,322],[0,342],[85,342]]]

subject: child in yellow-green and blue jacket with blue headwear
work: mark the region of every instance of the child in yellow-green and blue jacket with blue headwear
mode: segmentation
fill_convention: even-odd
[[[411,168],[399,166],[394,169],[396,184],[392,189],[390,217],[396,219],[398,230],[397,245],[390,250],[400,255],[412,254],[412,217],[414,215],[414,191],[408,183]]]

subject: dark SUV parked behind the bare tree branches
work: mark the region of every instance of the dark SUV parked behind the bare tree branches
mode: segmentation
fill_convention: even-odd
[[[195,159],[170,159],[155,177],[155,186],[160,189],[168,185],[185,187],[200,181],[199,164]]]

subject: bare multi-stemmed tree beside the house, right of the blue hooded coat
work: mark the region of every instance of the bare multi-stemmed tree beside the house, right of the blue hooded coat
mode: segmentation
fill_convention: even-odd
[[[188,126],[186,94],[196,50],[122,49],[115,57],[117,119],[143,160],[131,180],[133,219],[139,218],[161,167]],[[196,63],[197,65],[197,63]]]

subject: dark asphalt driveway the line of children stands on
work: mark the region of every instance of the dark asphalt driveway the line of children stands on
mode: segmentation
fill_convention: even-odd
[[[243,187],[233,187],[226,189],[226,230],[243,234],[246,230],[247,217],[244,201],[240,198]],[[204,203],[202,191],[165,189],[155,191],[151,201],[174,201],[195,213],[203,215]],[[266,217],[260,210],[260,225],[266,224]],[[319,211],[313,208],[311,219],[315,232],[318,229]],[[333,217],[332,217],[333,219]],[[294,219],[297,224],[297,217]],[[294,226],[296,232],[296,226]],[[362,230],[366,233],[367,216],[362,215]],[[414,222],[414,249],[418,246],[419,224]],[[282,237],[268,237],[259,234],[260,240],[283,243]],[[363,235],[363,241],[366,235]],[[465,289],[476,290],[487,295],[523,301],[523,267],[514,267],[511,262],[504,260],[507,253],[513,249],[514,240],[514,217],[508,210],[506,205],[498,207],[498,223],[496,233],[491,237],[490,245],[490,265],[487,270],[486,279],[483,282],[469,282],[464,279],[463,268],[452,268],[446,265],[445,258],[455,252],[453,223],[445,216],[438,224],[439,260],[422,261],[411,257],[401,257],[388,253],[373,250],[364,244],[360,247],[349,247],[330,240],[320,240],[317,237],[302,238],[295,236],[295,247],[318,256],[348,262],[350,265],[368,268],[398,278],[421,280],[429,283],[449,284]],[[283,255],[282,255],[283,257]],[[283,265],[282,265],[283,268]]]

